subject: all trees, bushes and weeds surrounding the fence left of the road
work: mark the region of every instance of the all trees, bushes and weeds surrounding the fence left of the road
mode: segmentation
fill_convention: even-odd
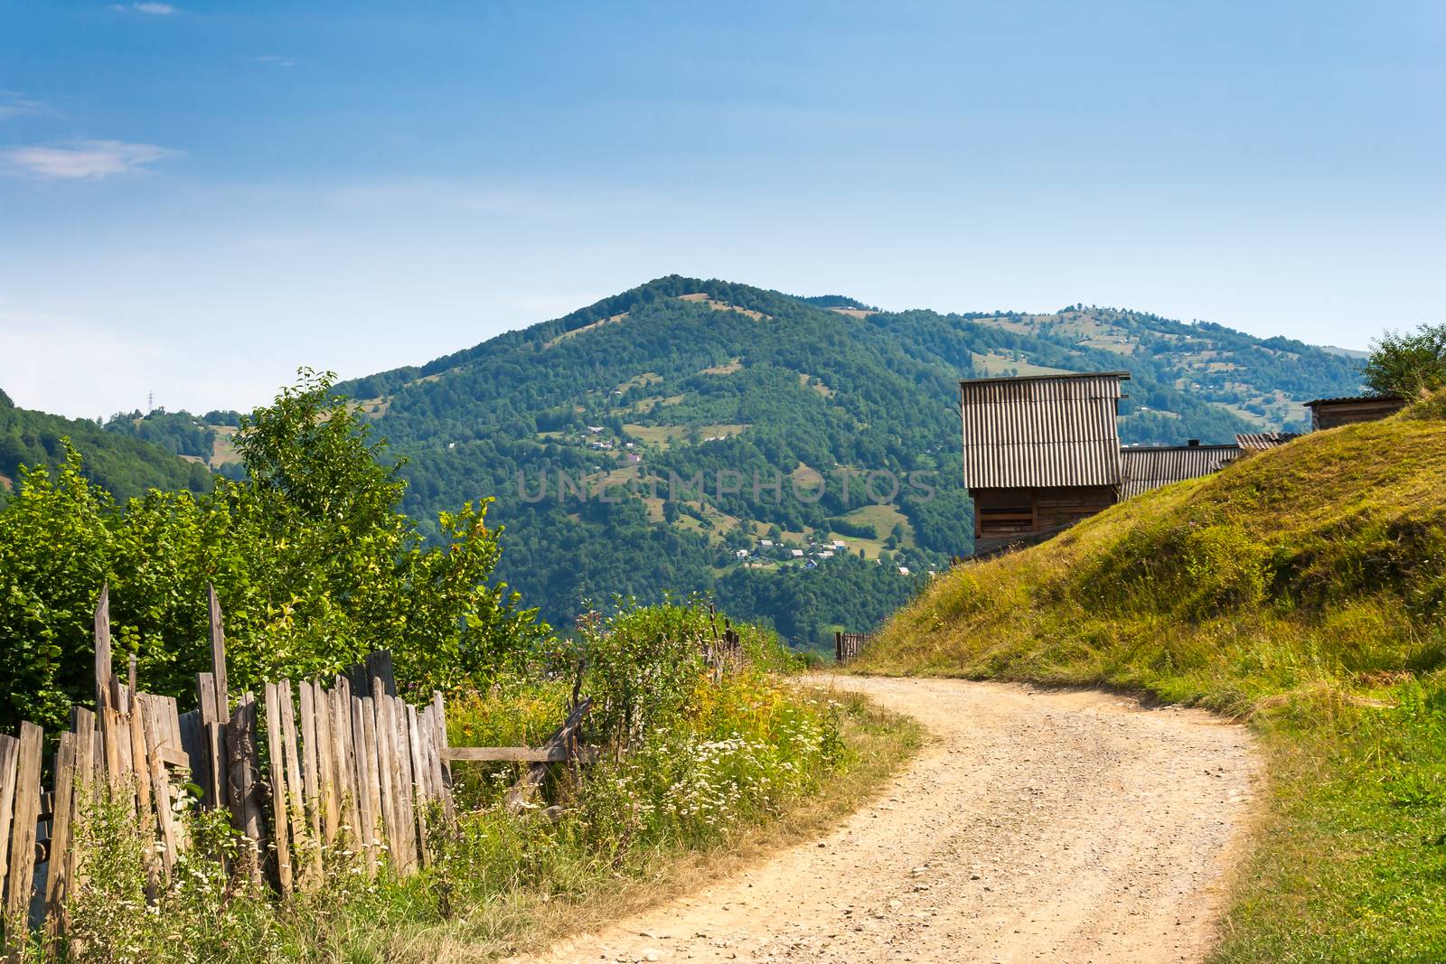
[[[800,685],[803,659],[771,629],[735,626],[742,658],[710,663],[722,617],[700,598],[619,600],[554,633],[493,578],[502,542],[486,504],[442,513],[440,545],[421,539],[383,444],[327,376],[304,373],[246,416],[237,451],[240,481],[126,506],[74,451],[22,474],[0,512],[0,731],[19,720],[54,731],[90,701],[101,584],[117,659],[137,658],[142,689],[194,705],[211,582],[233,692],[389,646],[402,687],[447,691],[453,746],[541,744],[581,692],[599,759],[552,767],[521,815],[503,795],[525,765],[457,763],[455,818],[428,815],[429,866],[372,879],[343,832],[324,882],[286,900],[230,876],[239,834],[194,806],[171,883],[147,883],[150,834],[101,792],[77,827],[85,883],[67,903],[68,938],[35,937],[33,960],[489,960],[807,832],[872,792],[915,740],[857,698]]]

